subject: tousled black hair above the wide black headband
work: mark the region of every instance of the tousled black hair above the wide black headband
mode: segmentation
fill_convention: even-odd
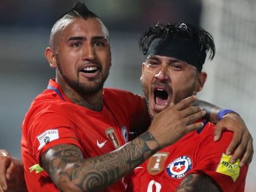
[[[187,41],[193,41],[197,43],[200,51],[198,56],[210,51],[209,59],[213,59],[215,56],[215,44],[213,37],[201,27],[195,27],[191,24],[184,23],[168,23],[151,26],[147,30],[143,31],[140,36],[139,46],[143,52],[143,55],[147,55],[148,48],[153,40],[160,38],[161,43],[172,40],[174,36],[184,38]]]

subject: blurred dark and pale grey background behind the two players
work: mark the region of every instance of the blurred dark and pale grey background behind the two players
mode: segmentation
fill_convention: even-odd
[[[0,0],[0,148],[20,157],[20,126],[54,70],[44,52],[54,22],[71,0]],[[242,115],[256,136],[256,1],[254,0],[87,0],[109,28],[113,67],[106,86],[142,94],[139,35],[157,22],[200,25],[213,34],[217,54],[205,67],[208,82],[199,95]],[[255,160],[246,191],[255,191]]]

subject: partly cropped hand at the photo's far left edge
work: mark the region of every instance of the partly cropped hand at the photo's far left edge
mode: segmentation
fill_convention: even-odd
[[[11,178],[14,162],[9,152],[0,149],[0,192],[7,190],[7,180]]]

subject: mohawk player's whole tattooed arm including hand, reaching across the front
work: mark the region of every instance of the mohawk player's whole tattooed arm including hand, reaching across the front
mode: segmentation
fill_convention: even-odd
[[[102,190],[159,149],[201,128],[202,123],[192,122],[203,117],[205,111],[200,107],[189,107],[193,100],[192,97],[182,100],[155,115],[148,131],[108,154],[83,159],[76,146],[59,144],[43,153],[41,165],[60,191]]]

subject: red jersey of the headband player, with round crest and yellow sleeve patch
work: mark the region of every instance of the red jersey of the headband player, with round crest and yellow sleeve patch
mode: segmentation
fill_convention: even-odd
[[[248,167],[231,165],[228,148],[233,133],[224,132],[220,141],[213,141],[215,125],[205,122],[205,127],[185,135],[171,146],[158,151],[134,169],[127,191],[176,191],[189,173],[205,173],[223,191],[244,191]]]

